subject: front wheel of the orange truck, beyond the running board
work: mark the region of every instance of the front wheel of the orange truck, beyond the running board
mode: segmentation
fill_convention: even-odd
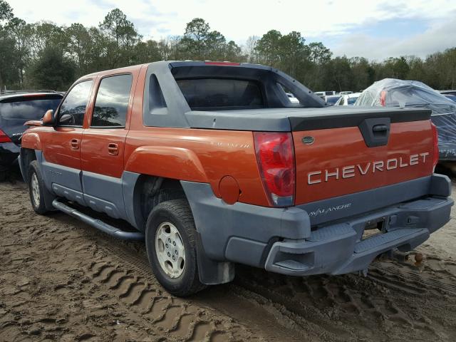
[[[30,194],[30,202],[33,210],[41,215],[46,214],[49,212],[46,207],[46,197],[51,197],[51,194],[44,185],[43,177],[41,177],[41,171],[36,160],[33,160],[28,165],[27,181],[28,193]]]

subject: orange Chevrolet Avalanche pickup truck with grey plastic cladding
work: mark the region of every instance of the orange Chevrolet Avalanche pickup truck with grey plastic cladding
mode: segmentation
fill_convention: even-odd
[[[19,164],[33,209],[145,239],[155,276],[177,296],[231,281],[236,263],[295,276],[366,271],[450,219],[430,110],[328,108],[266,66],[93,73],[28,125]]]

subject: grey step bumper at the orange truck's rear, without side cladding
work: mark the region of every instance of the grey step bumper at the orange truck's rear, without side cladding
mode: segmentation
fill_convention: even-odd
[[[332,224],[308,239],[286,239],[272,245],[265,269],[281,274],[345,274],[367,269],[379,254],[408,252],[450,219],[452,199],[427,197]],[[361,240],[368,222],[384,222],[385,233]]]

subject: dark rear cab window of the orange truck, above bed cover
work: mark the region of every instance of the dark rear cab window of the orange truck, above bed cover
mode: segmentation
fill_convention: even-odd
[[[262,108],[264,99],[253,81],[198,78],[176,80],[192,110]]]

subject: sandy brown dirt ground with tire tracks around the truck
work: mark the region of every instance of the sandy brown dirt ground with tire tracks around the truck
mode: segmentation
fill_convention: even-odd
[[[307,278],[237,266],[232,284],[178,299],[141,242],[35,214],[16,177],[0,183],[0,341],[456,341],[455,239],[451,219],[419,266]]]

